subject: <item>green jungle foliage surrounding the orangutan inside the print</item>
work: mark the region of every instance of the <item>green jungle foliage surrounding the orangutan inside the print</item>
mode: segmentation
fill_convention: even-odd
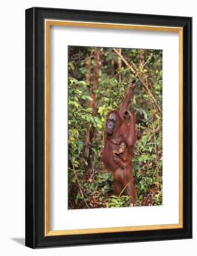
[[[69,209],[129,206],[126,195],[115,196],[113,177],[101,161],[105,116],[121,105],[135,77],[130,103],[136,115],[138,141],[133,156],[136,206],[162,204],[162,51],[121,49],[121,60],[112,48],[100,48],[99,82],[94,91],[97,114],[92,116],[91,93],[95,47],[71,47],[68,63]],[[89,66],[87,65],[89,61]],[[89,74],[89,77],[87,77]],[[121,81],[119,81],[119,74]],[[138,80],[141,77],[150,93]],[[160,109],[160,111],[159,111]],[[87,159],[83,157],[88,125],[93,127]],[[158,178],[157,178],[158,172]]]

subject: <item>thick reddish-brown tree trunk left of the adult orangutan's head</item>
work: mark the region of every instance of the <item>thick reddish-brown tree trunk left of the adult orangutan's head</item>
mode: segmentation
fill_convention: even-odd
[[[100,48],[95,47],[94,51],[94,69],[93,69],[93,82],[92,82],[92,93],[91,97],[92,100],[90,103],[90,107],[92,108],[92,116],[96,116],[97,114],[97,95],[95,93],[95,90],[98,89],[98,80],[99,80],[99,59],[100,59]],[[88,148],[89,148],[89,142],[92,139],[93,134],[93,127],[88,126],[87,128],[87,134],[85,137],[85,146],[83,151],[83,158],[85,160],[88,159]]]

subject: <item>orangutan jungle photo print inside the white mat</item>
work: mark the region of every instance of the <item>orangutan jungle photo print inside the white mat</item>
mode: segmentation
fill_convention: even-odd
[[[68,46],[68,209],[162,205],[162,50]]]

